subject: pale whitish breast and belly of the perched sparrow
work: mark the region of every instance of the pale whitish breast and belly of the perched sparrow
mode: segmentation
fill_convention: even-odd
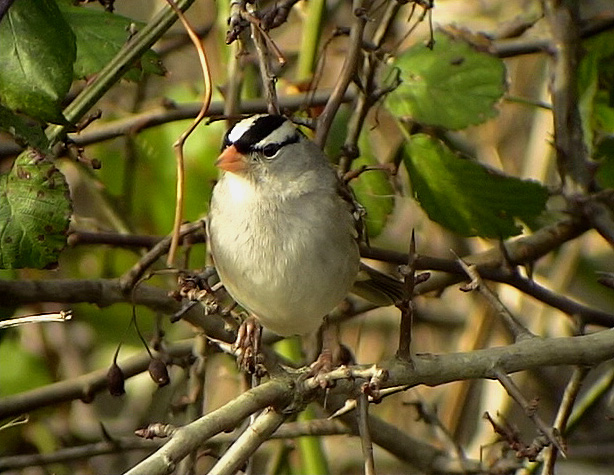
[[[280,335],[316,329],[358,272],[352,217],[332,192],[279,201],[227,173],[213,193],[209,233],[228,292]]]

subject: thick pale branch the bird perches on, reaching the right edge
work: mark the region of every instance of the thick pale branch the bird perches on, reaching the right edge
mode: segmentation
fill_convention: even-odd
[[[413,365],[395,360],[386,369],[387,378],[385,381],[381,380],[381,384],[385,386],[439,385],[457,379],[480,377],[497,378],[507,382],[509,381],[506,376],[508,373],[530,367],[596,363],[614,356],[613,332],[614,330],[606,330],[593,335],[548,340],[532,338],[507,347],[489,348],[470,353],[416,356]],[[497,369],[493,371],[493,368]],[[356,375],[358,379],[370,379],[381,371],[376,367],[349,368],[345,372],[341,369],[334,370],[332,373],[336,374],[336,377],[332,379],[338,384],[333,392],[352,393],[352,388],[359,389],[355,387],[356,384],[362,384],[356,382]],[[298,410],[300,406],[296,407],[296,402],[300,401],[302,405],[309,397],[316,397],[319,384],[317,382],[311,384],[309,381],[305,381],[305,384],[297,383],[298,381],[293,383],[292,380],[286,378],[275,378],[243,393],[217,411],[177,429],[173,438],[163,448],[127,473],[130,475],[170,473],[173,467],[198,445],[225,429],[236,427],[241,420],[259,409],[273,405],[278,408]],[[315,393],[313,388],[316,388]],[[332,397],[329,399],[332,400]],[[351,419],[355,421],[354,417]],[[374,442],[388,447],[388,444],[380,438],[380,435],[384,435],[379,434],[381,426],[374,425],[372,419],[369,421],[369,426]],[[544,427],[545,433],[549,434],[548,428]],[[382,429],[382,432],[390,434],[392,430],[394,429]],[[550,437],[552,437],[551,434]],[[556,444],[560,446],[558,441]],[[396,450],[393,449],[394,446],[395,444],[391,443],[390,449]]]

